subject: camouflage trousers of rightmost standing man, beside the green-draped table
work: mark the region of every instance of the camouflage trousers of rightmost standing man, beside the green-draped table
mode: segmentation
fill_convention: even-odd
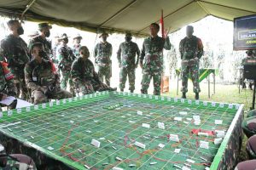
[[[182,60],[182,89],[183,93],[188,92],[188,80],[189,80],[189,73],[192,78],[193,82],[193,92],[200,93],[200,86],[199,86],[199,63],[193,59],[190,60]]]

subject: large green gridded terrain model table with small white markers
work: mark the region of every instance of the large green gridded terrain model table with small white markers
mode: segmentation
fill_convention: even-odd
[[[218,151],[221,156],[218,149],[224,150],[239,108],[102,92],[3,112],[0,131],[77,169],[200,170],[211,163],[218,167],[215,156]],[[205,131],[192,133],[196,129]],[[216,134],[209,132],[214,130],[225,132],[222,143],[213,143]],[[93,139],[99,147],[91,144]]]

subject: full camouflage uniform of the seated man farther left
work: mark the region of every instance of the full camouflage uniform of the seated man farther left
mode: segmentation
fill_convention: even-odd
[[[38,63],[33,59],[26,64],[24,71],[26,87],[31,89],[35,105],[47,102],[48,99],[72,97],[72,94],[60,88],[59,77],[51,61],[43,59],[42,63]]]

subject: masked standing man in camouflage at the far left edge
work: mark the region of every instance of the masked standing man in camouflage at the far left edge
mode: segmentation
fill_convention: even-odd
[[[18,20],[9,20],[7,23],[11,34],[5,37],[1,42],[1,56],[9,64],[9,70],[14,74],[14,83],[17,88],[17,97],[28,99],[28,91],[24,80],[24,67],[30,60],[29,50],[26,42],[20,37],[24,33]]]

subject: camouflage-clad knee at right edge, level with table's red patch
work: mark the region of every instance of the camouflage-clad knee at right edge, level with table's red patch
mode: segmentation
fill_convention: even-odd
[[[247,117],[241,123],[243,133],[247,135],[247,138],[250,138],[256,134],[256,116]]]

